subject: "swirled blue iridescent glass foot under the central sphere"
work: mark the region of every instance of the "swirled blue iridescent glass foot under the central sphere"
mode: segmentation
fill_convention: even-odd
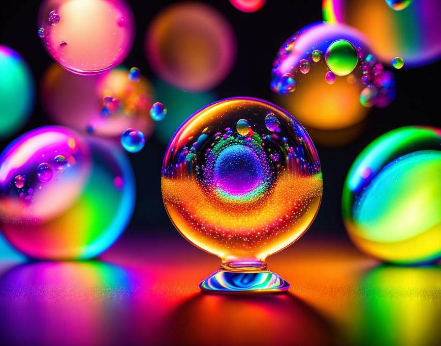
[[[226,270],[221,268],[199,284],[210,293],[277,293],[287,291],[289,283],[268,269]]]

